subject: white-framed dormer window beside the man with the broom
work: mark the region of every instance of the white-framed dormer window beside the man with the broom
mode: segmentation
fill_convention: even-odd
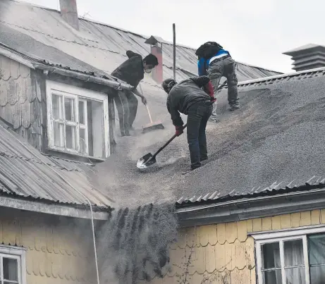
[[[47,81],[49,148],[94,158],[109,156],[106,94]]]

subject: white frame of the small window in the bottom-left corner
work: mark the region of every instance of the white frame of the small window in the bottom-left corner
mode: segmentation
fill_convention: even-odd
[[[3,279],[2,257],[8,259],[17,259],[18,265],[18,283],[27,284],[26,280],[26,249],[23,247],[11,247],[7,245],[0,245],[0,262],[1,262],[1,279]]]

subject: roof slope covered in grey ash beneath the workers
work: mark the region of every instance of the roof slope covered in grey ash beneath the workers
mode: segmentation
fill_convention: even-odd
[[[314,176],[323,183],[324,75],[325,69],[319,68],[246,82],[239,86],[242,108],[233,113],[227,110],[227,90],[221,90],[219,121],[207,126],[209,162],[187,175],[182,175],[190,166],[186,135],[157,156],[157,166],[143,172],[135,167],[140,156],[157,151],[174,131],[166,94],[150,92],[157,99],[151,106],[154,119],[166,130],[119,141],[118,153],[97,166],[99,183],[107,185],[121,204],[125,196],[127,202],[134,199],[138,204],[250,195],[286,185],[300,187]],[[141,123],[145,119],[145,113],[139,113]]]

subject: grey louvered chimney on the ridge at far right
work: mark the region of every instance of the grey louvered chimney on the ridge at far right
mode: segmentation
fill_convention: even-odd
[[[297,72],[325,67],[325,47],[322,45],[306,44],[283,54],[292,56],[293,70]]]

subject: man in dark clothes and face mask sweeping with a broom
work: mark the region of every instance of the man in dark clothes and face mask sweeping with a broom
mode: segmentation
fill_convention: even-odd
[[[128,50],[126,55],[128,60],[111,73],[115,78],[123,80],[134,87],[132,91],[116,91],[114,95],[122,136],[129,136],[130,130],[133,129],[133,122],[135,116],[137,116],[137,98],[135,94],[141,98],[143,104],[147,104],[145,96],[138,92],[137,85],[145,77],[145,73],[151,73],[152,69],[158,65],[158,59],[153,54],[142,58],[140,54]]]

